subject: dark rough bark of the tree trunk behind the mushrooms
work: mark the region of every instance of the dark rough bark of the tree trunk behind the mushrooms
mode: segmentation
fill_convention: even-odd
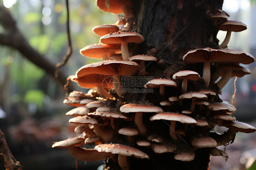
[[[182,57],[189,50],[197,48],[219,48],[216,39],[217,30],[209,15],[216,9],[221,9],[222,3],[222,0],[133,0],[133,31],[143,35],[145,41],[142,44],[130,45],[129,49],[136,49],[137,51],[133,51],[136,54],[157,57],[157,62],[145,64],[148,76],[172,80],[172,75],[179,70],[194,70],[202,76],[202,64],[186,65]],[[127,103],[148,101],[159,106],[160,101],[166,99],[166,96],[181,94],[182,80],[178,80],[177,84],[178,89],[165,88],[165,98],[159,95],[159,91],[154,90],[153,94],[126,94],[123,101]],[[212,85],[210,84],[210,87]],[[198,91],[202,88],[205,88],[203,80],[190,82],[188,85],[188,91]],[[147,120],[148,117],[145,116],[143,120],[145,124]],[[191,134],[195,133],[195,131],[191,132]],[[209,135],[209,133],[210,130],[205,131],[205,134]],[[186,146],[191,147],[189,144]],[[195,159],[189,162],[174,160],[173,153],[155,154],[148,148],[140,149],[149,155],[150,160],[129,157],[131,170],[207,170],[210,161],[210,149],[197,149]],[[118,165],[115,165],[111,159],[107,161],[106,167],[118,170]]]

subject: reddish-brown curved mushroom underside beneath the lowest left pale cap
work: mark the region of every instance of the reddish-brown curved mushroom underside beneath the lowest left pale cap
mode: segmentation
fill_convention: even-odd
[[[79,146],[72,145],[68,147],[68,150],[72,156],[77,160],[83,161],[96,161],[107,158],[110,153],[107,152],[98,152],[94,149],[82,149]]]

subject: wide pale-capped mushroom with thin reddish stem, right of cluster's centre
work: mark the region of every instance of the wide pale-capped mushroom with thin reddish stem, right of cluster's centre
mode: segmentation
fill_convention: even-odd
[[[195,124],[196,123],[195,119],[193,119],[189,116],[181,115],[178,113],[169,113],[169,112],[152,115],[152,116],[150,116],[149,120],[151,120],[151,121],[153,121],[153,120],[171,120],[169,134],[170,134],[171,138],[174,140],[178,140],[178,137],[175,134],[176,133],[175,132],[176,121],[179,121],[183,124]]]

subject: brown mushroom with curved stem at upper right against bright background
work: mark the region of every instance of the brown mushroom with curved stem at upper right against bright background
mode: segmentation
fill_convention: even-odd
[[[247,26],[246,26],[246,24],[239,22],[239,21],[227,20],[225,22],[222,22],[218,28],[219,28],[219,30],[227,31],[225,40],[220,45],[220,49],[222,49],[222,48],[227,47],[232,31],[240,32],[240,31],[246,30]]]

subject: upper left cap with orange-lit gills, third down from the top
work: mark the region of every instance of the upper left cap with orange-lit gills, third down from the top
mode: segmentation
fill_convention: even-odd
[[[104,35],[100,38],[102,44],[121,44],[121,43],[142,43],[144,37],[136,32],[117,32]]]

